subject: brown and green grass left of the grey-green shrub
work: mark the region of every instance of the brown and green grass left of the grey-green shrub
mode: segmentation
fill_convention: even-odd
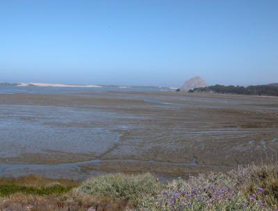
[[[117,211],[127,208],[126,202],[106,196],[88,196],[72,193],[80,181],[52,179],[28,175],[18,178],[0,178],[1,211]]]

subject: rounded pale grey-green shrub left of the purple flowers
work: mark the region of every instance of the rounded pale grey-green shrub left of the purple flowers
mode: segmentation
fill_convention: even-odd
[[[106,174],[89,178],[76,188],[77,194],[108,196],[137,205],[143,196],[154,196],[163,188],[151,174]]]

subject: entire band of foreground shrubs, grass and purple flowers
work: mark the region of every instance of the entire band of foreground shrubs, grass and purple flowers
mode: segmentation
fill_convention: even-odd
[[[277,164],[199,174],[167,184],[151,174],[107,174],[83,183],[38,176],[0,179],[1,211],[266,211],[277,208]]]

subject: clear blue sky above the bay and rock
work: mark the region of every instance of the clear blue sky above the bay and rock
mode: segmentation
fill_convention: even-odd
[[[0,82],[278,82],[277,0],[1,0]]]

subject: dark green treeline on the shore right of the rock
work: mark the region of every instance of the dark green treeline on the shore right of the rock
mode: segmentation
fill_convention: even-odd
[[[213,92],[223,94],[239,94],[239,95],[272,95],[278,96],[278,84],[257,85],[257,86],[223,86],[214,85],[204,88],[191,89],[189,92]]]

